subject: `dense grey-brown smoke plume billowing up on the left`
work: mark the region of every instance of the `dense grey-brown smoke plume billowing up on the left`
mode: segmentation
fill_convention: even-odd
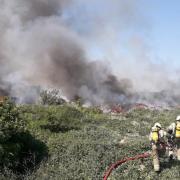
[[[81,38],[61,18],[70,1],[1,0],[1,95],[31,102],[32,86],[62,89],[69,99],[110,103],[130,93],[102,62],[88,61]],[[36,89],[36,88],[35,88]]]

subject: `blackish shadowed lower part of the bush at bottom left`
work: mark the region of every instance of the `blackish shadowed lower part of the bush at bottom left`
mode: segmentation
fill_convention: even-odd
[[[28,132],[17,133],[0,145],[1,170],[26,174],[48,155],[47,146]]]

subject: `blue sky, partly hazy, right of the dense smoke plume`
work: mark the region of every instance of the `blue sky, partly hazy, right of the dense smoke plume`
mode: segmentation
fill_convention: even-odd
[[[65,17],[71,17],[73,29],[84,35],[87,54],[92,59],[106,59],[112,69],[118,71],[122,61],[133,59],[134,51],[129,47],[129,40],[135,37],[143,39],[143,49],[148,49],[151,62],[166,64],[171,71],[180,67],[180,1],[121,0],[119,4],[116,0],[76,2],[76,6],[73,4],[67,10]],[[100,33],[101,28],[106,42],[103,42],[105,38]]]

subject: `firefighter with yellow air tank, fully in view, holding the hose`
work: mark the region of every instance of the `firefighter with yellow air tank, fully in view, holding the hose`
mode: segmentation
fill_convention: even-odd
[[[155,123],[154,126],[152,127],[149,140],[152,145],[153,166],[156,172],[160,171],[159,156],[163,149],[161,143],[165,142],[165,136],[166,136],[166,132],[162,130],[161,124],[158,122]]]

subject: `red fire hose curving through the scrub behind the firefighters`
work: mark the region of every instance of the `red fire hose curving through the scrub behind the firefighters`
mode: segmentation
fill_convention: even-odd
[[[103,180],[107,180],[108,177],[110,176],[111,172],[113,169],[116,169],[119,165],[127,162],[127,161],[133,161],[133,160],[137,160],[137,159],[142,159],[142,158],[148,158],[150,157],[151,154],[150,153],[143,153],[143,154],[140,154],[140,155],[137,155],[135,157],[129,157],[129,158],[124,158],[120,161],[117,161],[116,163],[112,164],[108,170],[105,172],[105,175],[103,177]]]

